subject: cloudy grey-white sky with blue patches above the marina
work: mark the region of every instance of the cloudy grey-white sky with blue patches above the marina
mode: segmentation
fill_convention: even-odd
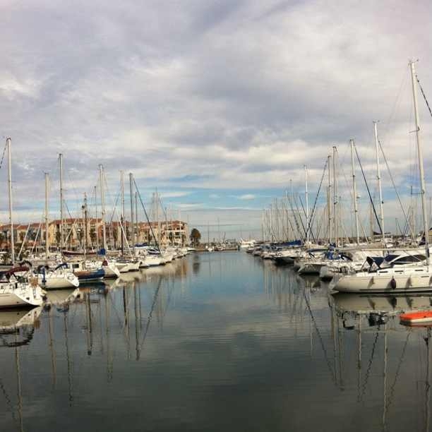
[[[103,164],[112,206],[124,170],[143,202],[157,188],[164,207],[210,237],[257,237],[261,209],[290,181],[304,194],[304,164],[313,202],[333,145],[352,220],[349,139],[376,195],[373,120],[409,205],[419,181],[408,61],[419,59],[432,100],[431,9],[426,0],[0,0],[0,133],[12,139],[16,220],[40,219],[44,172],[58,217],[61,152],[71,213]],[[432,121],[421,95],[419,108],[432,191]],[[402,211],[381,162],[394,229]],[[364,219],[359,172],[357,180]]]

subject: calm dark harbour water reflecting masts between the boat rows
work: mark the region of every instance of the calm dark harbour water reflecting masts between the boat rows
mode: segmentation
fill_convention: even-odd
[[[0,431],[426,431],[428,330],[368,313],[427,297],[333,299],[241,252],[126,278],[2,332]]]

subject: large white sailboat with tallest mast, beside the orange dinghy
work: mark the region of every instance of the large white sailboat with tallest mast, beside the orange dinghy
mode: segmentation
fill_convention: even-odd
[[[417,75],[414,61],[409,62],[412,77],[414,118],[416,122],[416,143],[419,157],[421,186],[421,207],[424,223],[424,248],[426,263],[415,266],[395,266],[379,269],[376,272],[357,272],[345,275],[335,283],[333,289],[340,292],[404,293],[432,291],[432,268],[429,264],[428,218],[426,215],[426,186],[424,181],[423,155],[421,152],[419,110],[417,104]]]

